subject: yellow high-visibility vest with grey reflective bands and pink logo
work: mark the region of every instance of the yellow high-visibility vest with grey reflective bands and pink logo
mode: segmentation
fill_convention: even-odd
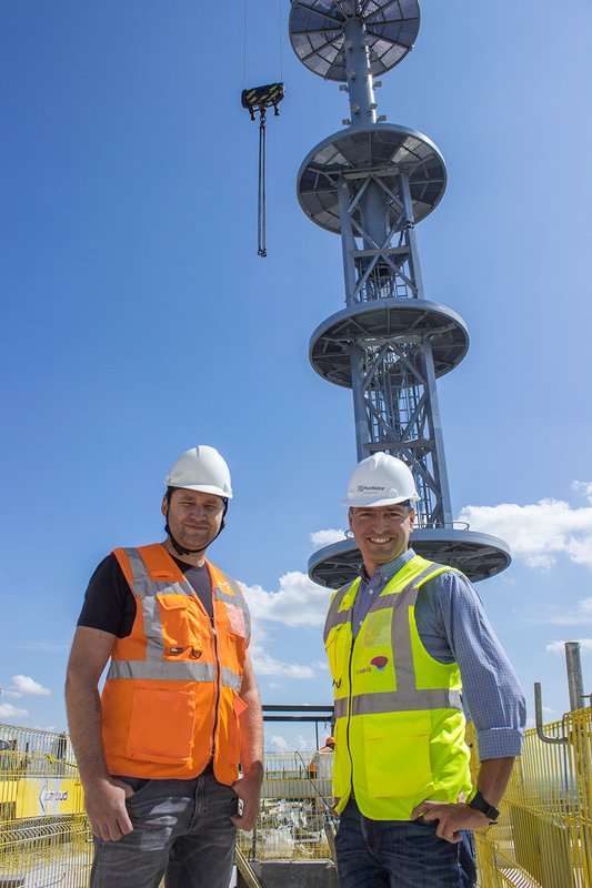
[[[333,794],[341,813],[352,790],[374,820],[409,820],[425,799],[471,791],[456,663],[439,663],[415,625],[419,588],[450,571],[419,555],[375,597],[355,640],[360,577],[334,593],[324,627],[333,679]]]

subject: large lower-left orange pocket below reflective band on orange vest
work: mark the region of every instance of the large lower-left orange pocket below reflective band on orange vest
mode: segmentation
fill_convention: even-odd
[[[137,687],[130,717],[129,758],[184,764],[195,736],[195,693]]]

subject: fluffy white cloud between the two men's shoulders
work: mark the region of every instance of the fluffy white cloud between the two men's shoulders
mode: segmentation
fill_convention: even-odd
[[[244,586],[244,594],[254,620],[267,619],[284,626],[321,626],[330,601],[329,591],[300,571],[283,574],[277,592]]]

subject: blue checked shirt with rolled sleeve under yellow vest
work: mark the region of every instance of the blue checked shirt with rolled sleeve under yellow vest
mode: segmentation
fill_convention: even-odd
[[[414,554],[408,549],[377,567],[372,577],[362,566],[352,614],[354,637],[377,595]],[[481,760],[520,755],[526,722],[524,696],[473,584],[452,572],[429,579],[418,594],[415,623],[434,659],[459,664],[463,705],[474,722]]]

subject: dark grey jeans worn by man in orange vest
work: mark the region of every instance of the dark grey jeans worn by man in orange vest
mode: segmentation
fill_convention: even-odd
[[[133,831],[94,838],[91,888],[228,888],[234,862],[238,797],[211,771],[192,780],[120,777]]]

